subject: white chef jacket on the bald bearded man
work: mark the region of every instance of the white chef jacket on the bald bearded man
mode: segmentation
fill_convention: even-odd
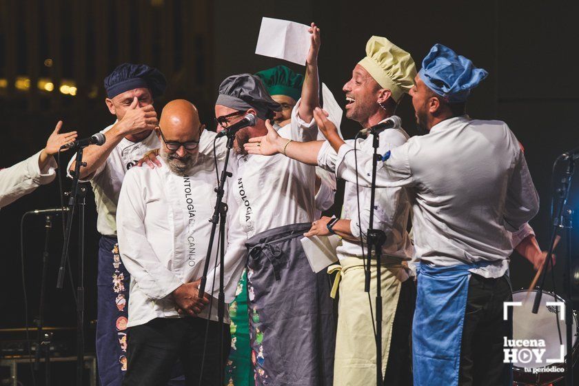
[[[179,317],[174,302],[167,296],[181,284],[201,277],[210,240],[212,223],[209,220],[217,185],[213,158],[199,154],[199,161],[187,176],[174,174],[162,159],[159,161],[161,167],[134,167],[126,174],[117,207],[119,251],[131,274],[128,327],[153,318]],[[224,201],[226,199],[227,196]],[[245,241],[244,234],[234,232],[226,230],[226,247],[236,238],[242,238],[242,243]],[[210,315],[214,321],[219,293],[219,268],[213,269],[218,236],[219,227],[205,288],[205,292],[213,293],[215,298]],[[243,259],[225,260],[226,303],[235,297],[244,265]],[[209,307],[207,305],[199,317],[207,318]],[[228,316],[226,323],[230,323]]]

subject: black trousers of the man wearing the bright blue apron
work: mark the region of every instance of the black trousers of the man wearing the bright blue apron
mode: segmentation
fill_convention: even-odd
[[[511,369],[503,360],[503,337],[511,336],[511,321],[503,319],[503,303],[513,298],[508,276],[484,278],[472,274],[460,348],[460,386],[505,384]]]

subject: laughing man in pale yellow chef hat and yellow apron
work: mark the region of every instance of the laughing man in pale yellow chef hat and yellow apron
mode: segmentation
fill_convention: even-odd
[[[412,88],[416,76],[410,54],[384,37],[371,37],[366,54],[354,67],[352,79],[343,87],[347,99],[346,116],[363,128],[392,117],[398,119],[395,116],[398,103]],[[245,148],[251,154],[281,153],[287,142],[282,136],[270,129],[267,136],[252,139]],[[405,130],[396,124],[380,133],[378,152],[385,154],[403,145],[408,138]],[[356,146],[361,152],[372,154],[372,142],[373,137],[368,136],[358,139]],[[347,143],[353,145],[354,141]],[[337,154],[327,141],[292,141],[286,146],[285,154],[332,172],[336,169]],[[372,267],[371,291],[367,294],[363,261],[364,253],[367,255],[365,234],[369,228],[370,191],[367,187],[359,187],[360,210],[357,196],[355,181],[346,181],[342,219],[317,219],[306,234],[342,237],[336,250],[340,264],[329,267],[329,272],[338,272],[332,296],[338,288],[340,293],[334,385],[376,384],[376,340],[371,312],[376,298],[376,263]],[[416,289],[402,262],[409,260],[413,252],[406,230],[410,203],[404,188],[390,187],[376,191],[375,207],[373,227],[386,234],[381,281],[384,384],[409,385],[412,384],[409,337]],[[360,245],[360,231],[363,245]]]

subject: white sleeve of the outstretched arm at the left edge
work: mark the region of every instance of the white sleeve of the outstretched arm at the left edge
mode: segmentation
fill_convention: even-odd
[[[49,157],[44,169],[40,170],[38,160],[41,151],[16,165],[0,170],[0,208],[32,192],[40,185],[51,183],[57,176],[57,162],[52,156]]]

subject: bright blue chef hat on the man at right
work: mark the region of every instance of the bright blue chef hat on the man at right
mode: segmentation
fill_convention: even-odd
[[[438,43],[432,46],[418,72],[428,88],[450,103],[466,101],[471,89],[488,74],[482,68],[476,68],[469,59]]]

